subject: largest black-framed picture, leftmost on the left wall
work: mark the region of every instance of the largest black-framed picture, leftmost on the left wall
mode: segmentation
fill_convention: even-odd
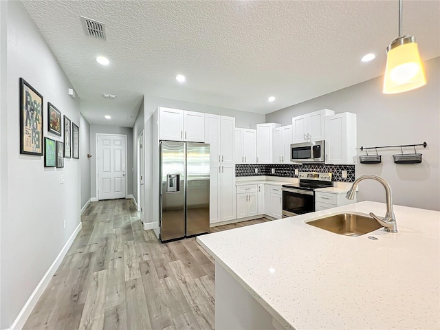
[[[20,78],[20,153],[43,155],[43,96]]]

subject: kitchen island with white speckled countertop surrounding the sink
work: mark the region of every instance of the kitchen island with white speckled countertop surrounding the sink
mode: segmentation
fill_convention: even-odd
[[[440,212],[395,206],[397,234],[305,223],[342,211],[383,216],[386,204],[198,236],[216,262],[215,328],[440,329]]]

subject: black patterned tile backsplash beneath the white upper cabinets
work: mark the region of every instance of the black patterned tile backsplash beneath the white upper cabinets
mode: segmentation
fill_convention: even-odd
[[[258,173],[255,173],[255,169]],[[275,174],[272,174],[272,168]],[[272,175],[276,177],[298,177],[295,170],[300,172],[330,172],[333,174],[333,181],[353,182],[355,181],[354,165],[325,165],[325,164],[245,164],[235,165],[236,177],[252,177],[257,175]],[[342,170],[347,170],[347,177],[342,177]]]

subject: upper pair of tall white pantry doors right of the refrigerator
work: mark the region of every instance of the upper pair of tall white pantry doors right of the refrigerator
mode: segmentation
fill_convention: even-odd
[[[210,144],[210,164],[234,164],[235,118],[205,114],[205,142]]]

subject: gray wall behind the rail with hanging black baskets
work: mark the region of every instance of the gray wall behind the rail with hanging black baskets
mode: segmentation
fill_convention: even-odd
[[[270,113],[266,122],[292,124],[295,115],[327,108],[357,113],[358,147],[428,142],[428,148],[417,149],[423,154],[421,164],[394,164],[392,155],[400,149],[379,149],[382,163],[357,164],[356,176],[384,177],[393,188],[396,204],[440,210],[440,57],[426,61],[425,69],[428,84],[419,89],[382,94],[383,77],[379,77]],[[404,151],[414,152],[411,148]],[[384,201],[384,189],[377,182],[362,181],[359,188],[358,200]]]

